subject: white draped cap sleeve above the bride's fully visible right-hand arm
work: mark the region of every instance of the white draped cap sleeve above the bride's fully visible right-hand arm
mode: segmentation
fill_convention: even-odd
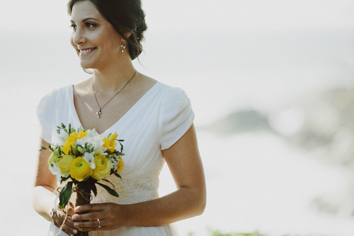
[[[181,88],[165,90],[159,114],[159,144],[161,150],[168,149],[192,126],[194,112],[191,102]]]

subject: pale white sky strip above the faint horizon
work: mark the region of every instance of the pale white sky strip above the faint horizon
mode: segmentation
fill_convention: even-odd
[[[67,31],[66,4],[64,0],[1,0],[0,29]],[[149,31],[154,32],[354,28],[354,1],[348,0],[145,0],[143,8]]]

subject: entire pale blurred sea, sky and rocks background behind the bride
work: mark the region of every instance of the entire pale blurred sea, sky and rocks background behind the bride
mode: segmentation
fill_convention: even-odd
[[[196,114],[203,215],[181,235],[259,231],[354,235],[354,1],[144,0],[138,71],[182,87]],[[0,225],[46,235],[31,206],[52,89],[89,75],[69,43],[62,0],[0,0]],[[164,168],[160,194],[174,191]]]

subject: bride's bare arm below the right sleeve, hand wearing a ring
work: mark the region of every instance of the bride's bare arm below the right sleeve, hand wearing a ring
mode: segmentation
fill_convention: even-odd
[[[114,203],[91,204],[75,208],[75,227],[81,231],[111,230],[119,226],[157,226],[200,215],[206,204],[206,188],[194,126],[163,156],[178,187],[175,192],[159,199],[129,205]],[[101,220],[101,228],[97,228]]]

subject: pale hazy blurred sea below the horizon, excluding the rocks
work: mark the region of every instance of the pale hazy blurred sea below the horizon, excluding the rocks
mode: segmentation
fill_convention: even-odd
[[[217,38],[148,32],[146,38],[136,68],[182,87],[196,113],[208,199],[203,215],[177,223],[181,235],[206,235],[208,229],[353,235],[351,213],[321,213],[312,204],[318,196],[352,187],[347,168],[314,158],[268,130],[208,127],[240,110],[267,116],[313,93],[352,87],[354,31],[225,32]],[[48,91],[89,75],[79,67],[68,32],[2,32],[0,50],[0,225],[4,235],[46,235],[48,223],[30,200],[39,137],[36,104]],[[174,190],[166,168],[160,186],[161,195]]]

